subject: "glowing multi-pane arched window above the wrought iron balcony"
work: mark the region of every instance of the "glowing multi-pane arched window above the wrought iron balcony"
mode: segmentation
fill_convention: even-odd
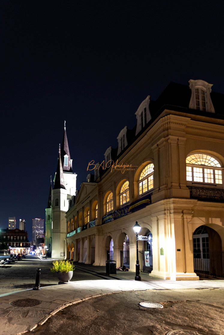
[[[222,184],[220,162],[206,153],[194,153],[186,158],[186,178],[189,182]]]

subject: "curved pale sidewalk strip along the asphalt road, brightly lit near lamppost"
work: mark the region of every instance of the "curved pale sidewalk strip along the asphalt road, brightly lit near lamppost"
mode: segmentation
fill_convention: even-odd
[[[85,269],[105,273],[105,267],[92,267],[91,265],[80,265]],[[132,290],[163,290],[163,289],[190,289],[190,288],[224,288],[224,280],[198,280],[198,281],[170,281],[149,277],[140,273],[142,281],[135,281],[135,272],[117,271],[122,280],[83,280],[68,284],[43,287],[41,290],[28,289],[14,294],[8,293],[0,296],[0,335],[22,334],[42,325],[48,318],[61,309],[82,302],[84,300],[121,291]],[[18,299],[25,299],[25,307],[11,305]],[[30,300],[36,299],[39,303],[28,306]]]

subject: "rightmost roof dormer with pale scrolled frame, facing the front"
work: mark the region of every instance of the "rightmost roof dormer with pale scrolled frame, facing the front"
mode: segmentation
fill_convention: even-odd
[[[215,113],[210,96],[212,84],[209,84],[204,80],[190,79],[188,82],[191,89],[189,108],[202,112]]]

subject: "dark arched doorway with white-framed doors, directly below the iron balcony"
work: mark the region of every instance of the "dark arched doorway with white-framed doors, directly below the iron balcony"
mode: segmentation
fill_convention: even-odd
[[[193,232],[194,272],[200,277],[224,277],[222,242],[217,231],[201,225]]]

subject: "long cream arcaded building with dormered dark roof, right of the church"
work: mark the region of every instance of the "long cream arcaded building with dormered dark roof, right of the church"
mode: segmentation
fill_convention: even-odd
[[[134,129],[121,130],[103,162],[89,163],[66,211],[66,258],[93,265],[113,258],[135,271],[138,221],[142,272],[224,275],[224,95],[211,86],[189,80],[170,83],[156,101],[147,96]]]

